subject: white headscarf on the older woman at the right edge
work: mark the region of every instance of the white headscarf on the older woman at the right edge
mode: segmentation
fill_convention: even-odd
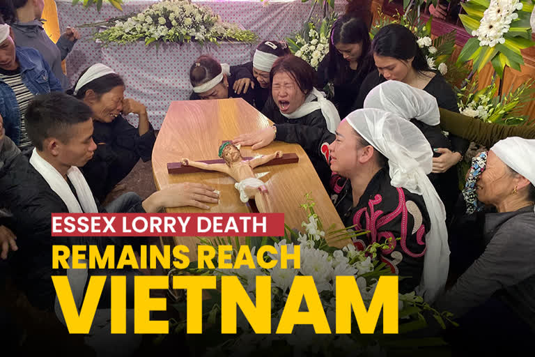
[[[535,139],[508,137],[494,144],[490,150],[505,165],[535,185]]]

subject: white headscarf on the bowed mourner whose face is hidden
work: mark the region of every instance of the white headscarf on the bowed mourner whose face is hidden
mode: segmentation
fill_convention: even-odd
[[[375,86],[364,99],[364,108],[383,109],[403,119],[417,119],[429,126],[440,124],[436,98],[399,81],[387,81]]]

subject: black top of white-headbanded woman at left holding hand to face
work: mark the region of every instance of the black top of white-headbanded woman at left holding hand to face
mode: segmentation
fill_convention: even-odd
[[[93,195],[104,200],[114,186],[132,171],[139,159],[150,160],[156,141],[153,126],[139,136],[139,130],[118,115],[111,123],[93,121],[95,155],[82,172]]]

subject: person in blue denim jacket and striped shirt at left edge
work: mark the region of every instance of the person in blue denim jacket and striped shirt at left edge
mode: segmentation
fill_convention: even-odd
[[[61,91],[48,63],[31,48],[15,46],[13,30],[0,18],[0,115],[6,135],[23,151],[32,148],[24,112],[37,94]]]

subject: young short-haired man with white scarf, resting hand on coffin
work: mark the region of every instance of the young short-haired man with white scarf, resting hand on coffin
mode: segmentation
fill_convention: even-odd
[[[95,244],[103,252],[107,245],[124,244],[121,238],[52,237],[51,213],[107,212],[107,208],[122,213],[155,213],[162,208],[178,206],[208,209],[206,203],[218,202],[217,193],[207,185],[183,183],[155,192],[144,201],[130,193],[119,197],[119,201],[112,202],[107,208],[99,206],[78,169],[91,159],[96,148],[92,139],[92,114],[84,102],[63,93],[37,96],[26,112],[28,135],[35,146],[31,159],[29,162],[20,160],[17,167],[8,172],[8,177],[2,178],[3,182],[14,184],[0,185],[0,205],[5,205],[17,218],[13,227],[19,248],[13,257],[15,281],[26,292],[31,304],[42,310],[54,310],[56,303],[50,276],[65,275],[61,269],[52,269],[52,245]],[[20,157],[24,158],[23,155]],[[79,306],[86,280],[84,277],[82,283],[78,278],[71,281],[72,272],[69,270],[66,275]],[[88,271],[90,275],[114,273]],[[127,281],[138,274],[139,271],[128,272]],[[129,308],[132,292],[133,286],[127,283]],[[109,308],[109,300],[109,290],[105,290],[98,308]],[[55,310],[61,319],[57,303]]]

